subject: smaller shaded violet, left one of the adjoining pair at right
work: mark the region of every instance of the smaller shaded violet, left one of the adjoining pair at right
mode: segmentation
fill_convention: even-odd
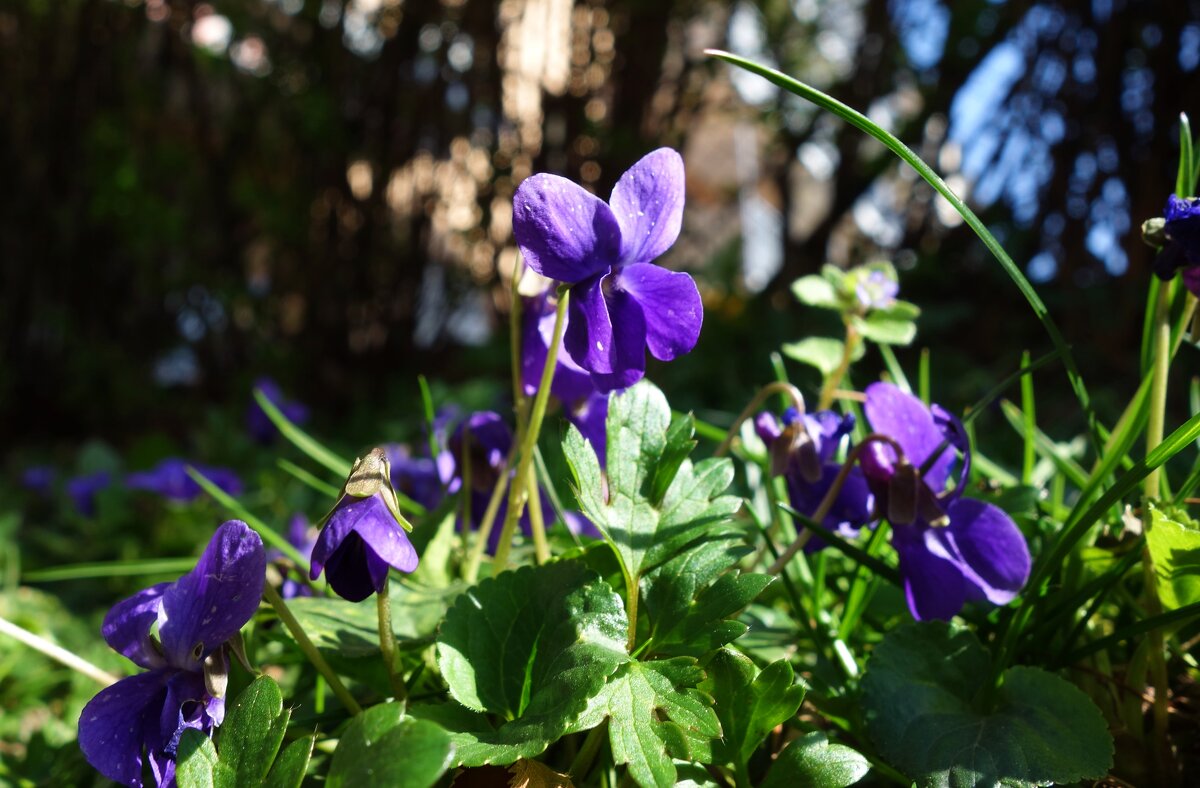
[[[769,413],[755,419],[755,431],[770,452],[772,473],[784,476],[787,495],[797,511],[812,515],[820,509],[841,473],[842,465],[834,455],[853,428],[854,416],[840,416],[832,410],[802,416],[788,408],[784,411],[782,425]],[[854,536],[872,519],[874,507],[875,497],[856,465],[847,471],[821,524],[840,536]],[[821,547],[820,539],[811,539],[805,545],[809,552]]]

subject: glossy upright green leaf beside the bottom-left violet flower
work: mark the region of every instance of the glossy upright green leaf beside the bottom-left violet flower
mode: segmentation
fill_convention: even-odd
[[[199,730],[185,732],[176,769],[180,787],[299,786],[313,739],[296,740],[280,754],[290,717],[280,686],[259,676],[230,705],[217,745]]]

